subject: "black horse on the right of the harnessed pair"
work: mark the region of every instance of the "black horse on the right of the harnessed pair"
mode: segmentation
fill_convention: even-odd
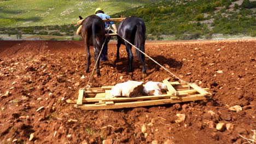
[[[132,45],[135,45],[139,50],[145,52],[145,40],[146,40],[146,26],[144,21],[139,17],[127,17],[125,20],[121,21],[118,26],[118,35],[129,41]],[[127,55],[128,55],[128,63],[129,63],[129,72],[133,71],[132,61],[133,55],[131,50],[131,45],[127,43],[124,39],[118,36],[118,44],[117,44],[117,61],[119,60],[119,48],[120,45],[123,44],[126,47]],[[139,58],[139,61],[142,64],[142,72],[146,73],[145,66],[145,56],[143,53],[139,52],[137,49],[135,50],[136,55]]]

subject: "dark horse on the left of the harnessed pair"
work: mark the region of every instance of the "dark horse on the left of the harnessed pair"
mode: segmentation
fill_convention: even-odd
[[[80,19],[83,19],[79,16]],[[90,15],[85,18],[82,24],[82,38],[84,39],[85,43],[85,49],[87,51],[87,65],[86,65],[86,73],[89,71],[89,63],[90,63],[90,46],[94,46],[94,61],[96,63],[97,58],[99,57],[99,53],[101,50],[101,47],[104,43],[105,38],[105,24],[101,17],[98,17],[96,15]],[[96,72],[97,76],[100,77],[100,61],[97,62],[96,65]]]

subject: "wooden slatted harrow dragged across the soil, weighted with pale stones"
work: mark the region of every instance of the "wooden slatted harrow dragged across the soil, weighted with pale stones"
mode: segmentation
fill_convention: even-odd
[[[184,85],[167,80],[164,80],[163,83],[167,85],[168,91],[161,95],[147,95],[134,98],[106,98],[106,95],[110,95],[110,90],[113,86],[103,86],[79,89],[78,99],[67,100],[66,102],[74,103],[75,108],[83,110],[106,110],[182,103],[185,101],[204,100],[211,96],[211,93],[207,92],[208,88],[201,88],[195,83]]]

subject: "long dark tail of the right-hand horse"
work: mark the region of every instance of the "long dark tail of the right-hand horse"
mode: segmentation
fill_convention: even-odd
[[[145,40],[146,40],[146,35],[145,35],[145,28],[142,27],[143,23],[139,22],[137,23],[137,30],[135,33],[135,46],[141,50],[142,52],[145,52]],[[145,56],[143,53],[135,49],[136,55],[139,58],[139,61],[144,62]]]

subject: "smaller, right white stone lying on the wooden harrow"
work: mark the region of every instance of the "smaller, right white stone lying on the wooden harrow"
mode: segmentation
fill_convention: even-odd
[[[161,89],[167,89],[167,86],[161,82],[148,81],[143,88],[143,92],[148,95],[160,95]]]

